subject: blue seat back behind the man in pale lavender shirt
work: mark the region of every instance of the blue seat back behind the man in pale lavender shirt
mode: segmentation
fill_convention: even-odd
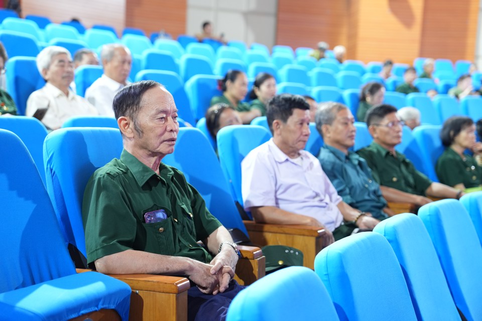
[[[241,162],[252,149],[270,138],[271,133],[265,127],[256,125],[226,126],[217,133],[217,153],[221,169],[231,186],[234,200],[241,205]]]

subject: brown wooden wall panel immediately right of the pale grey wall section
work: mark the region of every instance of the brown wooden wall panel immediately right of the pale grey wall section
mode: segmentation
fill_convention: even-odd
[[[278,0],[276,43],[315,48],[326,41],[330,48],[347,46],[349,1]]]

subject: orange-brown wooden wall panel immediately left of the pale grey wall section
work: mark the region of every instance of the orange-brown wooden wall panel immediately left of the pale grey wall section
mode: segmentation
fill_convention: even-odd
[[[187,0],[127,0],[126,26],[150,35],[165,30],[174,39],[186,33]]]

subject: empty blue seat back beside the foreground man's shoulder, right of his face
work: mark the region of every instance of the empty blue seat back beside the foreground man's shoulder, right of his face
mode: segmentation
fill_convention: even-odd
[[[248,236],[217,156],[199,129],[179,128],[174,152],[162,161],[184,174],[187,182],[202,196],[211,214],[225,228],[237,228]]]

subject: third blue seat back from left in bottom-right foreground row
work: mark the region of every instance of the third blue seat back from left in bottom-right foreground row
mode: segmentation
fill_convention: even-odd
[[[400,214],[382,221],[374,232],[388,240],[398,258],[417,319],[460,321],[422,220],[414,214]]]

